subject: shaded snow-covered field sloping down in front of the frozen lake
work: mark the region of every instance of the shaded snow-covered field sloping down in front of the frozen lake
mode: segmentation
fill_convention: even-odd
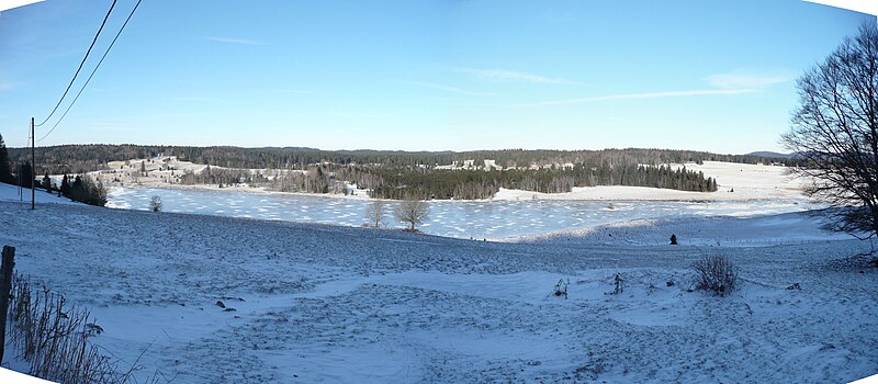
[[[869,244],[803,214],[485,242],[78,204],[30,211],[9,191],[0,244],[18,247],[18,270],[88,305],[105,330],[94,342],[121,366],[143,352],[142,377],[824,383],[878,373],[878,271],[857,256]],[[680,246],[665,245],[671,233]],[[688,292],[702,255],[731,258],[741,289]],[[608,294],[616,273],[624,291]],[[551,295],[559,279],[567,300]],[[786,289],[793,283],[801,290]]]

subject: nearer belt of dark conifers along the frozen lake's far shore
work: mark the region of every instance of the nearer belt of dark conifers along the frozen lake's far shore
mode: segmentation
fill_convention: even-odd
[[[281,192],[346,193],[346,184],[371,190],[379,199],[489,199],[500,188],[543,193],[570,192],[574,187],[632,185],[713,192],[717,180],[685,167],[577,166],[566,169],[437,170],[420,167],[318,166],[305,172],[205,169],[188,173],[185,183],[246,182]]]

